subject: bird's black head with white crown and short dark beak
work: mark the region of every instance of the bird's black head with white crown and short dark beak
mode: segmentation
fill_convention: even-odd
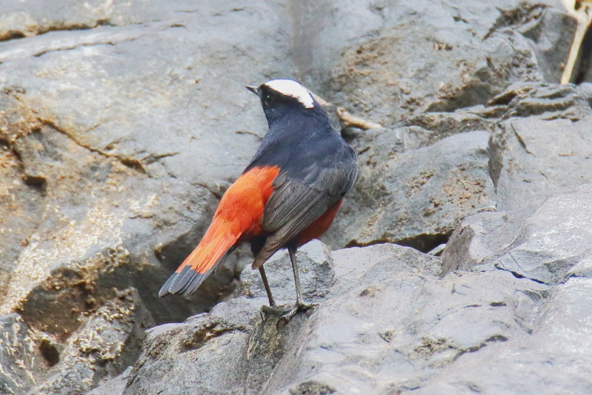
[[[287,115],[313,115],[320,109],[308,89],[291,79],[272,79],[259,86],[247,85],[246,88],[261,99],[270,126]]]

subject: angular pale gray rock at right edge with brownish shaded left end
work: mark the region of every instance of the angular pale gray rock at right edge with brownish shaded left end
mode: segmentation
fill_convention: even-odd
[[[591,205],[592,185],[584,185],[549,197],[536,211],[468,217],[442,254],[443,272],[495,267],[545,284],[585,276],[592,258]]]

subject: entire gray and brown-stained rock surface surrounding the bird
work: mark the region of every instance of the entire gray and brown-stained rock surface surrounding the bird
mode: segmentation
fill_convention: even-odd
[[[558,0],[0,0],[0,391],[592,392],[574,29]],[[298,255],[320,306],[263,322],[247,249],[157,298],[278,77],[382,125],[342,130],[360,177]]]

